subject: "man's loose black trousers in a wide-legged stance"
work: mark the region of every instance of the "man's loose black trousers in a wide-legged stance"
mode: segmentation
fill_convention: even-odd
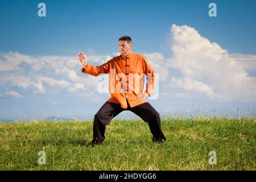
[[[127,102],[127,109],[121,108],[120,104],[112,102],[105,102],[105,104],[94,115],[93,121],[93,141],[96,143],[102,143],[105,140],[106,125],[119,113],[124,110],[130,110],[142,118],[143,121],[148,123],[150,131],[153,135],[152,140],[155,142],[166,140],[161,129],[159,113],[148,102],[144,102],[135,107],[130,107]]]

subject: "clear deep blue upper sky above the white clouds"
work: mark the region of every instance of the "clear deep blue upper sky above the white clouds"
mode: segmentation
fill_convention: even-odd
[[[46,18],[37,16],[39,2],[46,3]],[[216,18],[208,16],[210,2],[1,1],[0,50],[72,55],[87,48],[107,54],[127,34],[138,52],[159,52],[163,35],[176,23],[196,27],[230,52],[255,54],[256,1],[214,1]]]

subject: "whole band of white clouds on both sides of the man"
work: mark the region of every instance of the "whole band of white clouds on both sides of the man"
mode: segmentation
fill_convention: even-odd
[[[166,45],[168,56],[159,52],[143,53],[155,73],[159,73],[162,98],[207,98],[217,102],[256,99],[255,55],[231,54],[186,25],[173,24]],[[118,52],[113,52],[112,56],[88,55],[87,58],[89,64],[101,65],[117,55]],[[100,100],[101,93],[109,92],[108,75],[93,77],[81,73],[76,56],[35,57],[18,52],[0,53],[0,86],[0,93],[16,98],[24,96],[9,90],[75,93],[94,101]]]

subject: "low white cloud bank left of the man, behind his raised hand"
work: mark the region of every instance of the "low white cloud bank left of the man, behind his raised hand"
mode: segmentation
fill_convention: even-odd
[[[101,65],[109,59],[111,57],[108,55],[88,56],[88,63]],[[89,90],[96,93],[101,81],[101,76],[92,77],[81,73],[76,56],[33,57],[18,52],[0,53],[0,68],[2,91],[19,88],[34,94],[73,92],[91,97]],[[7,93],[19,98],[18,93]]]

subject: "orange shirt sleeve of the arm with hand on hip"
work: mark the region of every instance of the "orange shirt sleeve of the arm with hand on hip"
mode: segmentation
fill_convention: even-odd
[[[152,96],[155,86],[155,73],[154,69],[148,63],[146,57],[143,56],[144,64],[143,64],[143,71],[147,76],[147,85],[146,85],[146,92],[149,96]]]

